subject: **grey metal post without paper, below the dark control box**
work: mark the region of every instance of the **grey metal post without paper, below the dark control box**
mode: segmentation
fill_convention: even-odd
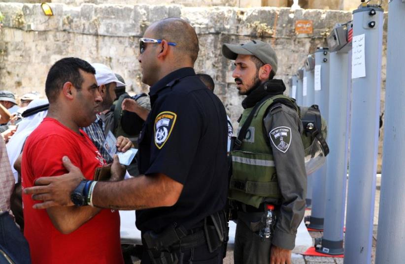
[[[348,54],[330,54],[328,156],[324,231],[320,252],[343,254],[344,209],[347,175]],[[344,144],[343,144],[344,143]]]

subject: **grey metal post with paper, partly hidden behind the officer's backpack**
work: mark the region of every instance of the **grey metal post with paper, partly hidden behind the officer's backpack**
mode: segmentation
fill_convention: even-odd
[[[319,106],[322,116],[328,121],[329,113],[329,52],[328,48],[318,48],[315,52],[314,103]],[[322,230],[325,217],[325,163],[313,173],[312,207],[309,228]]]

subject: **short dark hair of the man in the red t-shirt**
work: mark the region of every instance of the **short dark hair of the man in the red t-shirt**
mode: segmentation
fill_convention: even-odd
[[[76,89],[81,89],[83,77],[79,69],[96,74],[96,70],[89,62],[79,58],[60,59],[49,69],[45,82],[45,94],[49,102],[54,102],[58,93],[66,82],[70,82]]]

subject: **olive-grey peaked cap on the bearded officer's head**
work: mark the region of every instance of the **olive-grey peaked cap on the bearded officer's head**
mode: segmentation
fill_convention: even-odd
[[[275,55],[270,44],[266,42],[252,40],[240,45],[227,43],[222,45],[222,55],[224,55],[225,58],[235,60],[238,54],[255,56],[263,63],[270,64],[271,70],[274,74],[277,72],[277,55]]]

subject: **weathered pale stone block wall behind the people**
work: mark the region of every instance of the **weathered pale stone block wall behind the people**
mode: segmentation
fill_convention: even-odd
[[[74,56],[107,64],[124,77],[129,90],[147,92],[148,88],[140,82],[136,59],[138,39],[151,22],[169,16],[182,17],[196,29],[200,39],[196,71],[214,78],[215,93],[234,123],[241,113],[243,97],[237,95],[232,61],[221,55],[222,43],[243,43],[254,38],[270,42],[279,60],[276,77],[287,81],[309,53],[326,46],[325,36],[337,22],[347,22],[352,17],[347,11],[271,7],[61,3],[51,6],[54,16],[46,17],[40,4],[0,2],[0,11],[5,16],[0,29],[0,89],[20,95],[32,90],[43,92],[49,67],[58,59]],[[296,35],[296,20],[312,20],[313,34]],[[385,54],[384,48],[383,87]]]

